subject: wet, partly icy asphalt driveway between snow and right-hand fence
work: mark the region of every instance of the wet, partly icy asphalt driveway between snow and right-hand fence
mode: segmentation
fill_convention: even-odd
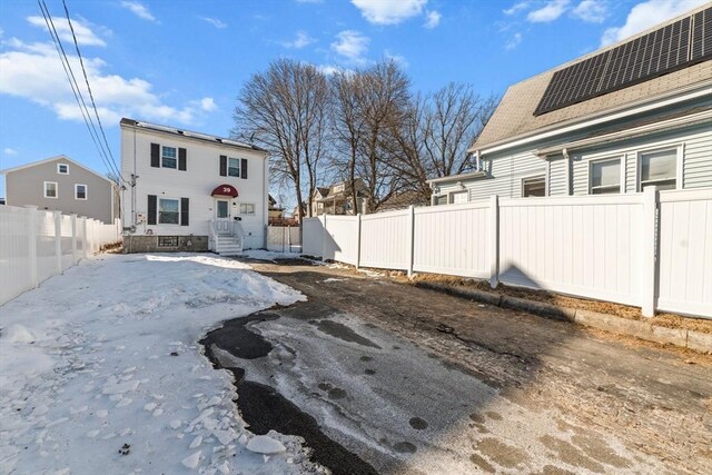
[[[202,344],[256,434],[334,473],[710,473],[712,358],[300,261]]]

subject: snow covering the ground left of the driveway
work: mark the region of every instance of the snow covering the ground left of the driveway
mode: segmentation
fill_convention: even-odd
[[[103,255],[7,303],[0,473],[313,469],[295,437],[248,445],[231,376],[197,343],[225,319],[305,298],[236,260]]]

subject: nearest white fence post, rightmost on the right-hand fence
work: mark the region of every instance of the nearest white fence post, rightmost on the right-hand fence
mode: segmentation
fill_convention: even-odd
[[[643,191],[643,256],[641,259],[641,313],[644,317],[655,316],[655,284],[657,281],[656,240],[657,240],[657,187],[647,187]]]

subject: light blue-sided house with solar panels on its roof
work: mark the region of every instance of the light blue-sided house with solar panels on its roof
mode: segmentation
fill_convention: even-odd
[[[711,26],[706,4],[510,87],[433,205],[711,187]]]

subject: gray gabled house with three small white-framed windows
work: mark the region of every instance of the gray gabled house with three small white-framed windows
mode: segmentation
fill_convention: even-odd
[[[116,182],[63,155],[0,170],[9,206],[76,214],[113,224],[119,217]]]

